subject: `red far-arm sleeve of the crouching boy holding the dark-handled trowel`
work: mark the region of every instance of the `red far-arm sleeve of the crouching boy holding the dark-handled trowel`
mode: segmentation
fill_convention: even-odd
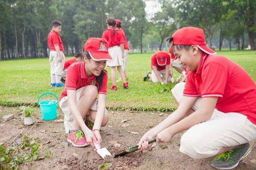
[[[185,88],[183,91],[183,95],[188,97],[200,96],[195,86],[195,83],[193,81],[193,75],[191,73],[187,75],[187,80],[186,80]]]

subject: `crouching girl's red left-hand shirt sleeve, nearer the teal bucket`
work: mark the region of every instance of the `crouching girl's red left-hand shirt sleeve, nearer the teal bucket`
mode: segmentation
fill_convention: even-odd
[[[69,67],[67,69],[67,76],[65,80],[65,88],[67,90],[76,90],[76,81],[78,80],[78,72],[75,68]]]

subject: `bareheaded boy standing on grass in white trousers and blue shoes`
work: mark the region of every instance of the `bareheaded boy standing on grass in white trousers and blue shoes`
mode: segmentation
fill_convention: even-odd
[[[47,37],[48,47],[50,49],[49,61],[52,87],[64,87],[64,84],[60,82],[60,75],[62,74],[65,62],[63,43],[59,37],[60,32],[61,22],[58,20],[52,21],[52,30]]]

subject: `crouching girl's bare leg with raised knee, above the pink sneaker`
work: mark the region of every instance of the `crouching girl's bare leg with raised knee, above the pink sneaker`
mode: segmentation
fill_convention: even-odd
[[[81,116],[84,118],[91,106],[93,105],[93,102],[96,99],[96,96],[98,94],[98,89],[96,86],[88,85],[86,86],[83,91],[80,94],[80,100],[78,102],[78,109],[81,114]],[[73,120],[73,126],[72,129],[80,129],[80,126],[76,119]]]

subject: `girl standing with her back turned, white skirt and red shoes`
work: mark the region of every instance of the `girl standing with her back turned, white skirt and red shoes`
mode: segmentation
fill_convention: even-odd
[[[115,29],[116,22],[114,18],[108,18],[106,24],[108,26],[108,29],[104,31],[104,33],[102,34],[102,38],[106,39],[109,42],[108,51],[109,55],[113,58],[113,60],[107,61],[107,66],[111,69],[112,86],[110,90],[117,90],[116,67],[123,81],[122,87],[128,89],[128,82],[126,82],[124,71],[122,71],[124,58],[124,38],[122,37],[120,31]]]

